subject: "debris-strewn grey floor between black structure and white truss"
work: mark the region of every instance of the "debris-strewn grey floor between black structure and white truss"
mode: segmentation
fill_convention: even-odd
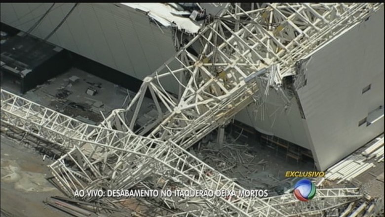
[[[91,90],[88,91],[87,90]],[[115,90],[115,91],[111,91]],[[77,68],[27,91],[23,97],[88,124],[99,124],[134,93]]]

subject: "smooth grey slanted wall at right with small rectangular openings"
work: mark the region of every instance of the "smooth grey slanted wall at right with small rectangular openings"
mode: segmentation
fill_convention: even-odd
[[[358,126],[384,105],[384,9],[313,53],[306,78],[298,90],[304,124],[317,167],[325,170],[384,131],[384,118]]]

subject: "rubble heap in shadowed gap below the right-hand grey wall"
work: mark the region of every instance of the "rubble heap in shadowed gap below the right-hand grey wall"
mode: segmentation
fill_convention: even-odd
[[[265,155],[265,158],[261,159],[263,154],[255,147],[235,143],[235,139],[230,135],[227,135],[226,141],[219,146],[217,143],[209,141],[209,137],[210,135],[191,148],[190,153],[220,173],[232,177],[235,182],[246,189],[268,188],[276,191],[271,192],[271,195],[274,195],[288,190],[296,179],[282,179],[284,169],[280,171],[278,164],[273,161],[269,162],[267,160],[269,155]],[[272,167],[275,168],[271,169]]]

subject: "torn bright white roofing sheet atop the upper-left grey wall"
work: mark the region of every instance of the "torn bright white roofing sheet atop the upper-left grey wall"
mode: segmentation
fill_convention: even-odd
[[[165,27],[169,27],[172,22],[178,29],[184,29],[188,33],[197,33],[201,28],[200,24],[193,22],[190,18],[174,15],[178,10],[165,3],[120,3],[135,9],[147,12],[148,16],[155,19]]]

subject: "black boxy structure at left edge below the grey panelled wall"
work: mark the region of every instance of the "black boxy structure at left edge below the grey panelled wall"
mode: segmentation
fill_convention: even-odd
[[[33,36],[15,35],[1,44],[1,74],[25,93],[71,67],[67,51]],[[12,76],[9,76],[12,75]],[[9,84],[9,83],[8,83]]]

